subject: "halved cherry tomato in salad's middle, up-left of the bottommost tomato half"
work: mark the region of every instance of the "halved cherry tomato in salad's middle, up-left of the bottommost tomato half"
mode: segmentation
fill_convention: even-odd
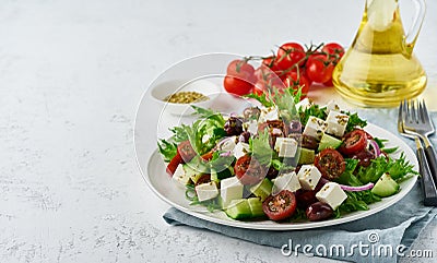
[[[257,184],[265,176],[265,171],[260,163],[249,155],[239,157],[235,163],[234,170],[235,176],[245,186]]]

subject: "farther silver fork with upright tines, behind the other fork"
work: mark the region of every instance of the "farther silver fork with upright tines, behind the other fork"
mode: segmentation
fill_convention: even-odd
[[[426,109],[425,101],[409,100],[406,104],[406,112],[410,118],[404,119],[403,129],[417,133],[424,142],[424,151],[426,159],[428,160],[430,174],[433,175],[434,181],[437,182],[436,152],[428,140],[428,136],[435,132],[435,129],[429,118],[428,110]]]

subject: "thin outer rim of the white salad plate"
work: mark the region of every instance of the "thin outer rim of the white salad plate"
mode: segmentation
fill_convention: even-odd
[[[381,130],[382,132],[389,133],[391,136],[399,139],[397,135],[394,135],[392,132],[373,124],[373,123],[368,123],[366,129],[376,129],[376,130]],[[410,152],[409,155],[410,156],[415,156],[413,150],[402,140],[399,139],[400,142],[402,142],[401,145],[401,150],[403,152]],[[135,152],[137,155],[137,152]],[[152,174],[150,171],[151,169],[151,163],[155,159],[158,158],[161,159],[161,162],[163,162],[162,157],[160,156],[158,150],[155,148],[153,151],[153,153],[149,156],[147,159],[147,164],[145,167],[145,175],[143,172],[143,170],[141,169],[140,165],[140,171],[143,176],[143,179],[145,180],[146,184],[149,186],[149,188],[152,190],[152,192],[154,194],[156,194],[161,200],[163,200],[165,203],[167,203],[168,205],[180,210],[191,216],[198,217],[200,219],[204,219],[211,223],[216,223],[220,225],[225,225],[225,226],[231,226],[231,227],[237,227],[237,228],[246,228],[246,229],[258,229],[258,230],[304,230],[304,229],[316,229],[316,228],[321,228],[321,227],[327,227],[327,226],[335,226],[335,225],[341,225],[341,224],[345,224],[345,223],[351,223],[357,219],[362,219],[362,218],[366,218],[368,216],[371,216],[378,212],[385,211],[388,207],[392,206],[393,204],[400,202],[404,196],[406,196],[410,191],[413,189],[414,186],[416,186],[416,181],[417,181],[417,175],[412,176],[411,178],[409,178],[405,182],[409,182],[408,187],[402,189],[403,191],[401,191],[401,193],[398,193],[397,195],[393,195],[392,199],[387,200],[385,203],[375,203],[375,204],[379,204],[378,207],[376,208],[369,208],[368,211],[357,211],[357,212],[353,212],[352,216],[347,216],[347,217],[340,217],[340,218],[333,218],[330,220],[322,220],[322,222],[311,222],[310,224],[296,224],[296,223],[275,223],[272,220],[260,220],[259,223],[261,224],[253,224],[255,222],[243,222],[243,220],[235,220],[232,218],[226,218],[226,219],[222,219],[218,217],[213,217],[211,216],[214,213],[211,212],[198,212],[198,211],[193,211],[190,208],[187,208],[182,205],[179,205],[177,203],[174,203],[173,201],[170,201],[169,199],[167,199],[166,196],[164,196],[152,183],[151,181],[151,177],[150,175]],[[411,158],[409,158],[410,162],[413,162],[414,168],[417,169],[418,168],[418,163],[417,159],[414,158],[413,160]],[[138,155],[137,155],[137,162],[139,162]],[[163,174],[165,174],[165,171],[163,171]],[[412,180],[412,181],[411,181]],[[370,204],[371,206],[371,204]],[[223,211],[220,212],[215,212],[215,213],[224,213]],[[263,222],[268,222],[269,224],[262,224]],[[307,222],[306,222],[307,223]]]

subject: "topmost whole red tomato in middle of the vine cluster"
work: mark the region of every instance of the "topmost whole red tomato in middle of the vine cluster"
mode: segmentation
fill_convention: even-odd
[[[303,65],[305,62],[304,47],[298,43],[286,43],[277,49],[276,63],[281,70],[287,70],[294,64]]]

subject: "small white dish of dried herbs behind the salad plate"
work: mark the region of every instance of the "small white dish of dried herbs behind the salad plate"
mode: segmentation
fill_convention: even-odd
[[[206,80],[208,79],[208,80]],[[202,77],[194,80],[172,80],[151,86],[151,97],[163,107],[164,112],[175,116],[187,116],[193,112],[191,105],[210,108],[214,99],[220,95],[221,87],[217,84],[218,77]],[[165,98],[178,92],[197,92],[208,97],[191,104],[168,103]]]

